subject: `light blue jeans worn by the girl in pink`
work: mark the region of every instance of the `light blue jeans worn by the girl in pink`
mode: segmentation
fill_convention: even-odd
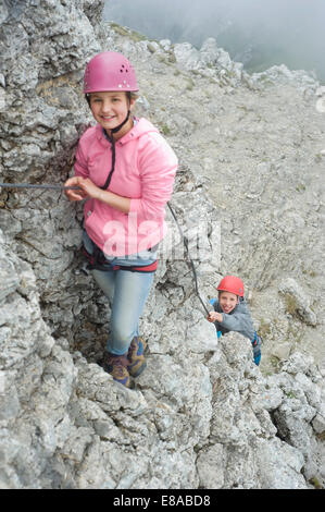
[[[92,254],[93,244],[87,235],[83,234],[83,243]],[[155,259],[155,253],[151,257]],[[141,259],[126,261],[127,265],[141,265]],[[113,265],[123,265],[123,259],[114,258]],[[143,261],[142,261],[143,265]],[[128,351],[135,336],[139,336],[139,318],[145,308],[154,272],[132,272],[129,270],[91,270],[92,277],[103,291],[111,305],[111,333],[107,351],[122,355]]]

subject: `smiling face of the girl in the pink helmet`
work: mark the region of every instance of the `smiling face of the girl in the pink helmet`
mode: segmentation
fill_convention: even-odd
[[[90,94],[90,109],[95,120],[102,125],[104,130],[110,132],[118,124],[123,123],[127,115],[127,111],[133,108],[135,99],[130,99],[124,92],[103,92]],[[123,134],[129,130],[126,123]],[[123,126],[124,127],[124,126]]]

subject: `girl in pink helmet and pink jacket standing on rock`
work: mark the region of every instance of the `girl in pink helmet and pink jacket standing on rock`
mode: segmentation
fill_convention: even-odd
[[[139,336],[166,230],[177,158],[150,121],[132,114],[138,92],[129,61],[115,51],[86,66],[84,93],[97,124],[82,136],[70,200],[84,205],[84,252],[88,268],[111,305],[104,368],[129,387],[146,367]]]

